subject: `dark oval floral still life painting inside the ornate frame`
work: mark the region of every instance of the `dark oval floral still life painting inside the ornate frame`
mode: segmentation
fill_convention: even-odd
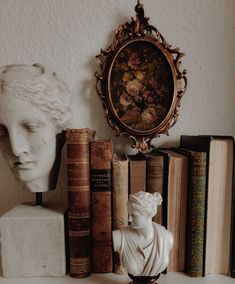
[[[110,84],[117,116],[135,131],[155,128],[170,109],[174,93],[171,67],[151,42],[134,41],[120,50]]]

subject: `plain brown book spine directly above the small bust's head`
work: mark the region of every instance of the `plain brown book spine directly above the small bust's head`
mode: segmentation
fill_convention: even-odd
[[[141,153],[128,155],[129,158],[129,193],[146,191],[146,159]]]

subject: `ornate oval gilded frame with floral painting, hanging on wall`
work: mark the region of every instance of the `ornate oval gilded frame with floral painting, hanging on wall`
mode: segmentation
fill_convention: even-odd
[[[120,25],[112,44],[96,56],[101,72],[95,76],[108,124],[145,152],[176,123],[187,71],[179,69],[184,54],[149,24],[143,5],[138,2],[135,11],[136,19]]]

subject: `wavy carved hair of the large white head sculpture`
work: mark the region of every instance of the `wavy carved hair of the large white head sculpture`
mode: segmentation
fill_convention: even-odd
[[[36,105],[53,120],[57,133],[70,127],[68,86],[56,73],[40,64],[1,67],[0,95],[16,95]]]

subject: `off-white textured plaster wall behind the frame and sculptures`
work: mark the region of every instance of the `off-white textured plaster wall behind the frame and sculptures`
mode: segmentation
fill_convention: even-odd
[[[235,1],[142,0],[145,14],[173,47],[185,52],[188,91],[177,124],[157,145],[177,145],[181,134],[235,135]],[[114,137],[95,91],[95,55],[118,25],[134,16],[136,0],[0,0],[0,65],[42,63],[67,81],[73,94],[73,127]],[[116,140],[115,140],[116,141]],[[128,143],[117,147],[129,151]],[[56,192],[66,200],[64,161]],[[0,156],[0,214],[32,199]]]

